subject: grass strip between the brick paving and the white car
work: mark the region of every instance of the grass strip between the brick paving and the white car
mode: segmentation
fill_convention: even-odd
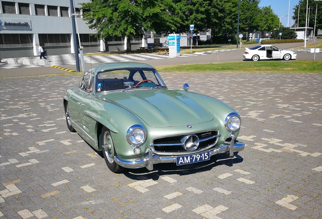
[[[250,72],[322,74],[321,60],[242,61],[156,66],[159,72]]]

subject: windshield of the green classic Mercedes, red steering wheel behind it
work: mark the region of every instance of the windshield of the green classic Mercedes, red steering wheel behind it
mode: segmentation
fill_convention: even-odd
[[[155,88],[166,85],[152,68],[118,68],[98,72],[96,92],[124,90],[132,88]]]

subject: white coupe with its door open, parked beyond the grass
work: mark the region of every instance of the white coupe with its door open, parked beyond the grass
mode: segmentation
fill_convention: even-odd
[[[281,50],[272,45],[258,45],[253,48],[245,48],[244,59],[251,59],[252,61],[258,60],[271,60],[271,59],[296,59],[296,53],[290,50]]]

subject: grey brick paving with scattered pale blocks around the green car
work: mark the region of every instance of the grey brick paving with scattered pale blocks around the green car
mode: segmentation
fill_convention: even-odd
[[[115,174],[66,127],[81,76],[1,80],[0,219],[322,217],[322,75],[161,74],[233,106],[245,150]]]

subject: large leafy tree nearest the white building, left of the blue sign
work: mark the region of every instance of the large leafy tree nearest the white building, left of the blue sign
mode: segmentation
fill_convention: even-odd
[[[100,39],[108,36],[127,36],[127,50],[131,39],[142,38],[144,30],[174,32],[183,14],[172,0],[92,0],[83,3],[84,20],[97,30]]]

